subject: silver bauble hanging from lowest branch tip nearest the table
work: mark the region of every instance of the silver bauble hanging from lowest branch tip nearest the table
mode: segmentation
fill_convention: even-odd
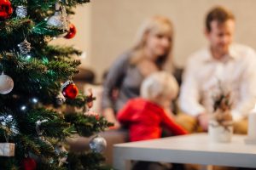
[[[90,140],[89,146],[90,150],[100,153],[107,148],[107,142],[106,139],[103,139],[100,136],[96,136],[95,138]]]

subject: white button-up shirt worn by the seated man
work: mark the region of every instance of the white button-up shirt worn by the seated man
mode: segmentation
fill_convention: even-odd
[[[192,116],[212,113],[213,97],[220,87],[231,94],[234,120],[246,117],[256,102],[256,54],[252,48],[232,44],[222,59],[214,59],[209,48],[192,54],[183,75],[181,110]]]

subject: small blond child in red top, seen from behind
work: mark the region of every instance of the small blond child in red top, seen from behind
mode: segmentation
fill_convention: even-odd
[[[177,82],[165,71],[148,76],[141,87],[141,98],[131,99],[118,113],[120,123],[129,127],[131,141],[159,139],[161,125],[174,135],[187,134],[165,108],[177,97]]]

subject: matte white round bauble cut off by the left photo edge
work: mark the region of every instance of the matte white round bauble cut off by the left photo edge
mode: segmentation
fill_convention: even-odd
[[[14,85],[13,79],[2,72],[0,76],[0,94],[9,94],[14,88]]]

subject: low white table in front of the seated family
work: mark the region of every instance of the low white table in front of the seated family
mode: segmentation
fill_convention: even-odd
[[[231,143],[212,143],[207,133],[195,133],[114,144],[113,167],[131,169],[131,160],[256,167],[256,145],[245,144],[245,138],[244,135],[234,135]]]

